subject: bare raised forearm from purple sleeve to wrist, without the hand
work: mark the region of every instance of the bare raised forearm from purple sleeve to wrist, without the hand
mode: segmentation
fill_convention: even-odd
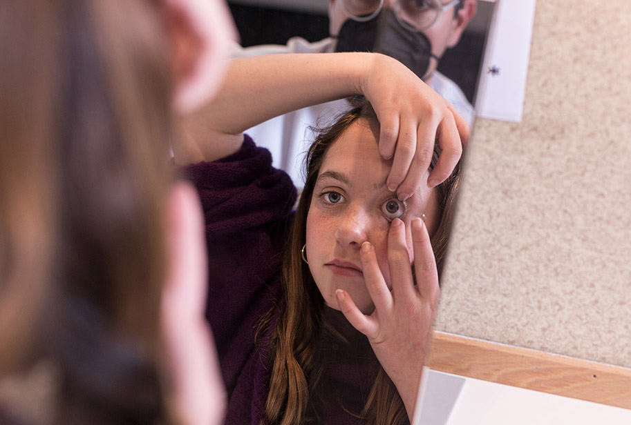
[[[212,161],[238,150],[247,128],[292,110],[363,92],[370,53],[265,55],[230,61],[216,98],[184,123],[178,164]],[[178,157],[191,157],[178,160]],[[196,159],[196,160],[194,160]]]

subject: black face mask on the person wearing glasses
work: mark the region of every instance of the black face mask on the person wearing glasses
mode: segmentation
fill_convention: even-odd
[[[420,78],[429,68],[431,42],[422,32],[408,30],[395,13],[384,8],[370,21],[347,19],[337,35],[336,52],[377,52],[397,59]]]

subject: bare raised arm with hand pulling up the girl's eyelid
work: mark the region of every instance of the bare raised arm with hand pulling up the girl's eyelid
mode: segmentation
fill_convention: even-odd
[[[365,95],[381,123],[379,151],[394,156],[388,187],[406,198],[425,175],[435,139],[443,149],[428,185],[443,181],[460,159],[469,126],[455,109],[401,63],[375,53],[264,55],[233,59],[212,103],[185,119],[173,146],[177,164],[236,152],[242,132],[286,112]]]

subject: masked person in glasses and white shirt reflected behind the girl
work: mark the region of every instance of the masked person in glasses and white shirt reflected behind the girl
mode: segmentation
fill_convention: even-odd
[[[448,48],[477,12],[478,0],[329,0],[331,37],[310,43],[292,37],[285,46],[235,46],[235,57],[275,53],[382,52],[394,57],[450,101],[469,122],[473,107],[456,83],[437,71]],[[331,101],[270,119],[247,131],[269,149],[274,166],[287,171],[301,187],[300,159],[308,149],[310,126],[330,123],[346,110],[346,101]],[[266,135],[276,134],[270,140]]]

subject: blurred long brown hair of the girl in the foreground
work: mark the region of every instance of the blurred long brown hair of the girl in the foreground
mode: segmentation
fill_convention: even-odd
[[[172,95],[159,19],[146,0],[0,4],[0,374],[51,359],[59,423],[166,415]]]

